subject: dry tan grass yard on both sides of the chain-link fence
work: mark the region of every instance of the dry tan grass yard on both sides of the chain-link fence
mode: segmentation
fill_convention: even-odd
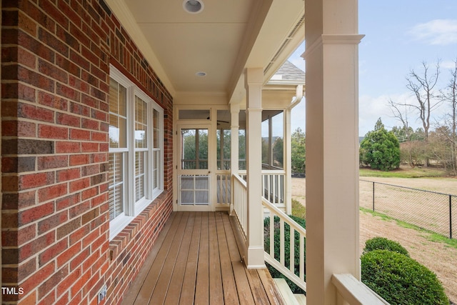
[[[364,171],[368,176],[362,176]],[[433,174],[433,171],[435,171],[435,174]],[[401,173],[403,177],[413,177],[414,179],[401,179],[401,176],[375,176],[378,173],[383,174],[384,172],[361,169],[361,179],[457,195],[457,179],[443,178],[443,172],[437,169],[405,169],[394,173],[388,172],[389,174]],[[292,179],[292,198],[303,205],[306,205],[305,181],[306,179]],[[371,196],[370,184],[361,181],[361,206],[363,206],[364,201],[371,202]],[[383,218],[365,210],[360,213],[359,226],[361,252],[365,246],[365,241],[375,236],[383,236],[398,241],[409,251],[413,259],[416,259],[437,274],[449,299],[454,304],[457,304],[457,249],[456,246],[449,245],[450,239],[443,237],[444,241],[439,240],[436,238],[436,234],[402,226],[398,221],[388,217]]]

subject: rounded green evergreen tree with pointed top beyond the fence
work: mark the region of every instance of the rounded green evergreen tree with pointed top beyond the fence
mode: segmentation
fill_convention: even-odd
[[[360,144],[360,162],[371,169],[390,171],[400,165],[400,144],[392,131],[387,131],[381,121],[376,121],[374,131],[368,131]]]

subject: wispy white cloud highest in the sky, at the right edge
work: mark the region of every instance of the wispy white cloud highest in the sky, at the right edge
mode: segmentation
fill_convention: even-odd
[[[441,46],[457,44],[457,20],[431,20],[424,24],[416,24],[408,33],[413,36],[413,39],[426,44]]]

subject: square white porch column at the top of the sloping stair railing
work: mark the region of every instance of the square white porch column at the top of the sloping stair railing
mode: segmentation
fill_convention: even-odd
[[[246,69],[246,170],[248,185],[247,258],[248,268],[263,268],[262,188],[262,83],[263,69]]]

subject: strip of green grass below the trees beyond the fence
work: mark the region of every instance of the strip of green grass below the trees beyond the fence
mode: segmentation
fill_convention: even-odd
[[[388,177],[388,178],[422,178],[422,177],[445,177],[446,171],[433,167],[415,167],[401,166],[400,169],[393,171],[379,171],[377,169],[360,169],[361,177]]]

